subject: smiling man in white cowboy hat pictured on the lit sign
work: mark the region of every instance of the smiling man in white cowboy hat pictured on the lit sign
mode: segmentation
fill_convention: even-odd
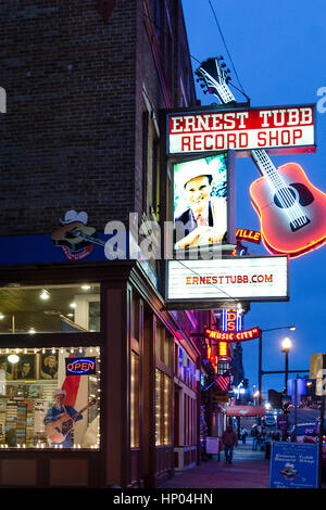
[[[226,200],[212,197],[213,169],[205,160],[184,165],[176,184],[181,190],[188,208],[175,218],[176,247],[221,243],[227,228]]]

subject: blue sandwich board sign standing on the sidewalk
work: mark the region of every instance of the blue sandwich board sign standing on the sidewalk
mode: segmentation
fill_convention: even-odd
[[[269,488],[317,488],[318,445],[272,443]]]

